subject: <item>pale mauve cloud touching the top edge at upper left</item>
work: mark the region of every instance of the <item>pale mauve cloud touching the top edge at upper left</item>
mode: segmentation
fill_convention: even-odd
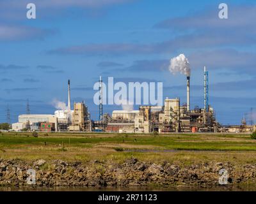
[[[38,17],[52,19],[66,15],[68,11],[74,8],[86,10],[86,13],[102,13],[102,10],[109,6],[129,3],[136,0],[1,0],[0,1],[0,18],[5,21],[21,21],[26,20],[24,10],[28,3],[34,3],[36,8],[40,8],[40,12],[36,13]],[[49,16],[51,18],[49,18]]]

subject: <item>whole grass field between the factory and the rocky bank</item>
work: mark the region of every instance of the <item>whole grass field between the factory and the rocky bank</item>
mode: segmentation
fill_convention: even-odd
[[[1,133],[0,157],[117,162],[135,156],[141,161],[255,163],[256,140],[250,135],[134,135],[106,133]]]

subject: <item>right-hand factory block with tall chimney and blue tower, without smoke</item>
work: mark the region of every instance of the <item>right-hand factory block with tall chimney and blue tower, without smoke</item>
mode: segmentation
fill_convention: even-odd
[[[171,132],[216,132],[218,122],[208,101],[208,72],[204,68],[204,108],[190,107],[190,77],[187,80],[187,100],[180,105],[180,99],[164,100],[164,106],[140,106],[139,111],[127,112],[114,110],[111,127],[121,120],[134,122],[134,133],[171,133]],[[108,130],[111,129],[108,124]]]

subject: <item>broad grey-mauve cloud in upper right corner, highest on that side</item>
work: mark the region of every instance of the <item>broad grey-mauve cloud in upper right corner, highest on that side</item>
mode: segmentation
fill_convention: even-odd
[[[216,10],[201,10],[193,15],[185,17],[176,17],[163,20],[156,25],[155,28],[161,29],[177,29],[177,30],[192,30],[192,31],[236,31],[244,33],[256,31],[255,19],[256,6],[255,5],[229,5],[228,19],[221,19],[218,17]],[[236,34],[236,33],[234,33]]]

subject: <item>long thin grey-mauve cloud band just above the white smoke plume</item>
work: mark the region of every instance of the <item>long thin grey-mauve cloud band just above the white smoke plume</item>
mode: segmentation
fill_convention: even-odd
[[[177,36],[173,40],[162,41],[159,43],[135,44],[135,43],[104,43],[87,44],[71,47],[56,48],[47,51],[47,54],[58,55],[99,55],[99,56],[118,56],[133,54],[163,54],[172,53],[177,50],[245,46],[255,45],[256,38],[241,38],[241,36],[223,35],[222,33],[209,34],[187,34]]]

